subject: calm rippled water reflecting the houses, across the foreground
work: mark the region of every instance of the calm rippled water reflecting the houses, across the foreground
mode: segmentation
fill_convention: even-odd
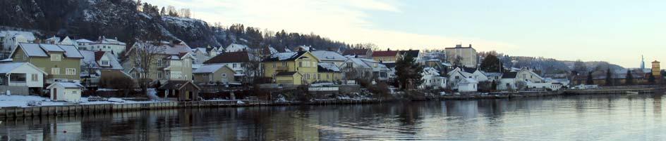
[[[662,98],[586,95],[16,119],[0,123],[0,140],[663,140]]]

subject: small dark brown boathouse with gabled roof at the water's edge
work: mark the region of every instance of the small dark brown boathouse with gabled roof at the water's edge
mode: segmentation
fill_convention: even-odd
[[[158,88],[164,90],[164,98],[176,98],[178,101],[198,101],[199,86],[191,81],[166,81]]]

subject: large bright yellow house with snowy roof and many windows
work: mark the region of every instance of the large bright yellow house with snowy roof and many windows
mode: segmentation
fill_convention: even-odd
[[[291,75],[291,80],[293,84],[297,84],[300,74],[301,80],[305,83],[313,83],[317,81],[317,66],[319,64],[319,59],[315,57],[309,51],[298,51],[298,52],[289,52],[289,53],[275,53],[270,55],[269,58],[266,58],[262,61],[262,66],[264,68],[264,76],[273,78],[277,81],[284,81],[284,75],[280,75],[280,80],[277,79],[277,74],[280,72],[298,72],[298,74]],[[298,83],[301,85],[304,83]]]

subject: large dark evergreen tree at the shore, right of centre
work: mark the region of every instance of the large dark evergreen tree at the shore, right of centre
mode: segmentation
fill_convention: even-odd
[[[414,57],[406,55],[403,59],[396,62],[396,75],[398,76],[398,83],[400,88],[408,89],[411,86],[418,86],[423,81],[420,81],[423,67],[416,63]]]

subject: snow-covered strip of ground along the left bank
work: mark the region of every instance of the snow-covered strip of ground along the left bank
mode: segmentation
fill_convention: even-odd
[[[88,98],[81,98],[82,102],[52,102],[49,98],[33,95],[0,95],[0,107],[30,107],[29,102],[38,102],[42,106],[56,105],[103,105],[103,104],[123,104],[123,103],[151,103],[156,101],[130,101],[121,98],[109,98],[110,101],[88,102]]]

